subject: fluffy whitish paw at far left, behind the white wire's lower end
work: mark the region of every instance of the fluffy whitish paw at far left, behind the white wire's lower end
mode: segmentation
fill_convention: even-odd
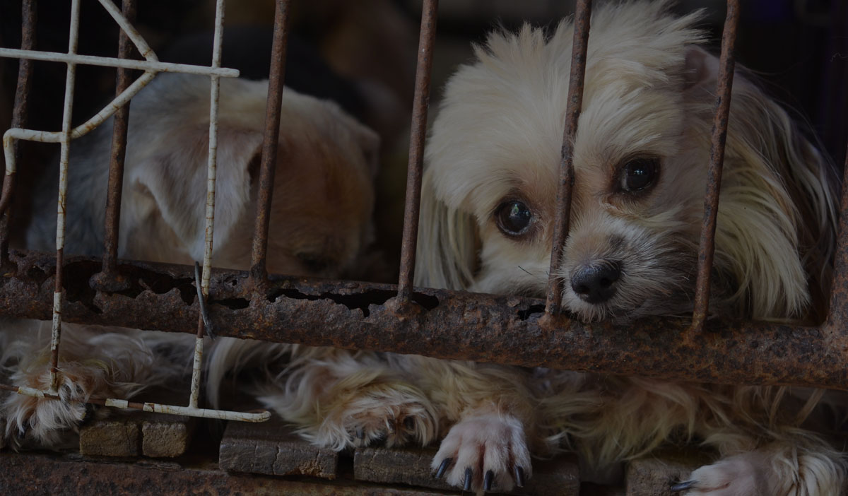
[[[63,363],[59,365],[59,399],[12,393],[3,402],[6,430],[3,436],[15,449],[27,445],[62,448],[69,434],[78,431],[82,422],[93,418],[98,410],[86,404],[92,394],[107,397],[111,392],[104,367]],[[50,367],[36,367],[15,374],[19,386],[47,391]]]

